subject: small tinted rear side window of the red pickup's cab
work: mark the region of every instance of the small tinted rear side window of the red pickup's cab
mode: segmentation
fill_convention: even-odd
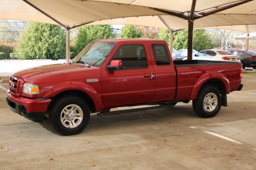
[[[152,50],[154,54],[154,59],[156,61],[156,65],[169,65],[170,58],[168,55],[168,51],[164,44],[153,44]]]

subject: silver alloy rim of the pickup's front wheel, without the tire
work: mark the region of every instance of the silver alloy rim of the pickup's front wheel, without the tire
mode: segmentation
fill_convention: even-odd
[[[78,127],[84,117],[84,113],[78,105],[67,105],[60,113],[60,121],[66,128]]]

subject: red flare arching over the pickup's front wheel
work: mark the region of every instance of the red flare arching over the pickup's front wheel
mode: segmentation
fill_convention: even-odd
[[[96,111],[102,110],[102,101],[100,99],[100,95],[90,85],[79,82],[79,81],[68,81],[68,82],[55,85],[54,87],[48,90],[48,92],[44,95],[44,97],[54,97],[64,91],[69,91],[69,90],[83,91],[84,93],[89,95],[94,101]]]

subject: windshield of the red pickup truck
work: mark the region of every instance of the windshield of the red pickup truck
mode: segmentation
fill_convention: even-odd
[[[113,42],[91,42],[78,54],[74,63],[84,62],[90,66],[100,67],[115,45]]]

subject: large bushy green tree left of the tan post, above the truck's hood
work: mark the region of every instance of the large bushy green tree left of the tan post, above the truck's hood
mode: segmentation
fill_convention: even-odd
[[[30,22],[14,51],[18,59],[65,58],[65,32],[60,26]]]

